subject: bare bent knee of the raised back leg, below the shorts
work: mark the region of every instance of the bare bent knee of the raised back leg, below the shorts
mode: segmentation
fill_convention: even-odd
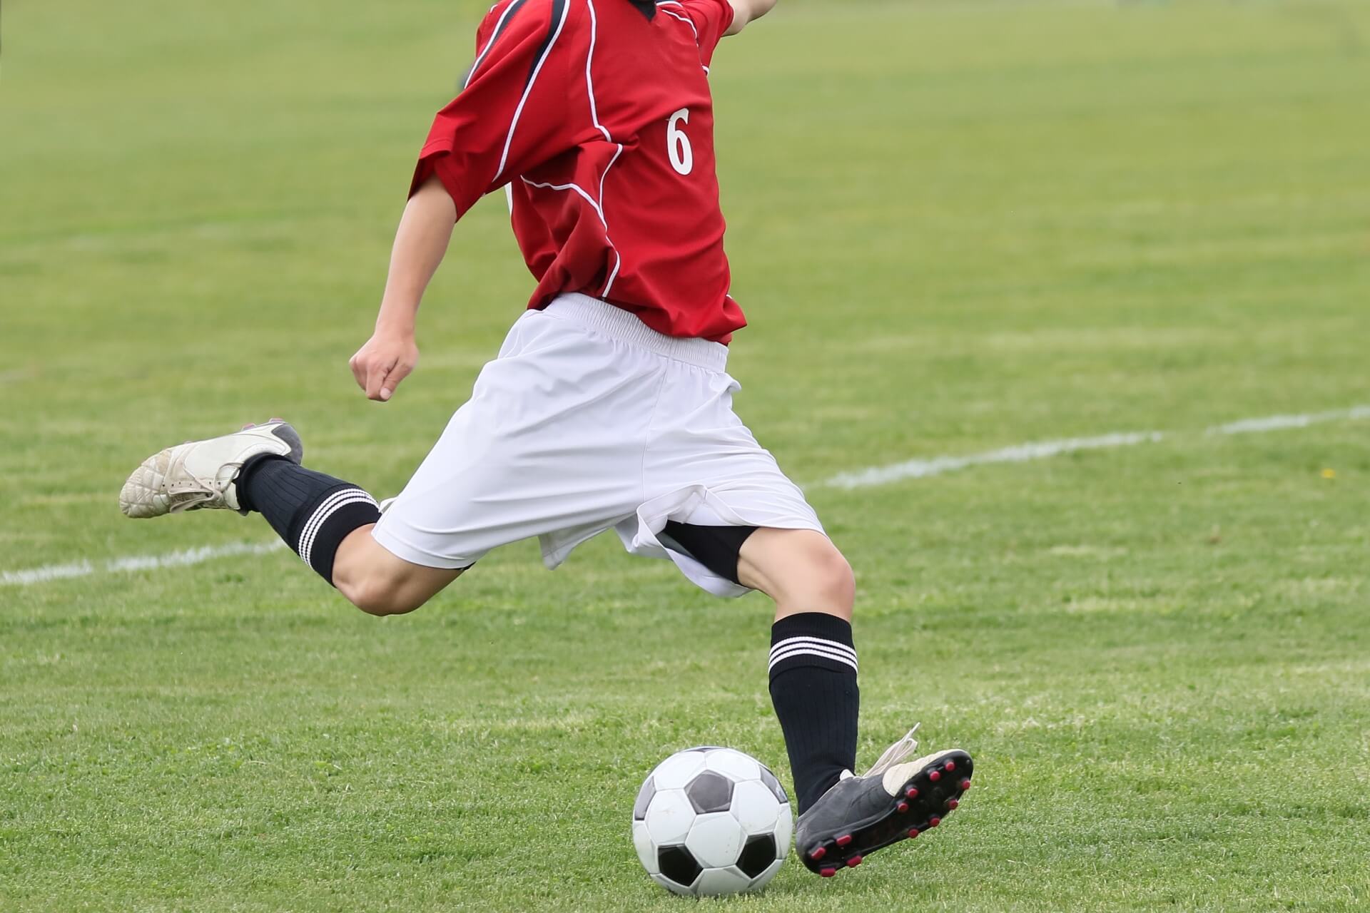
[[[403,615],[419,608],[466,568],[432,568],[396,556],[371,535],[353,530],[338,546],[333,586],[370,615]]]

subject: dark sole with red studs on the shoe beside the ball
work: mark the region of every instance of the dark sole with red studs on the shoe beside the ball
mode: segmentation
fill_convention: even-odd
[[[875,850],[933,830],[960,805],[974,769],[974,761],[964,751],[938,754],[891,797],[888,809],[845,832],[800,847],[800,858],[810,872],[832,877],[844,868],[856,868]]]

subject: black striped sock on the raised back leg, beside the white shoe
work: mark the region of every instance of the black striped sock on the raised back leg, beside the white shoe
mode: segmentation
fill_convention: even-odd
[[[375,498],[358,486],[285,457],[248,460],[233,485],[238,505],[264,516],[277,535],[329,583],[342,539],[381,519]]]

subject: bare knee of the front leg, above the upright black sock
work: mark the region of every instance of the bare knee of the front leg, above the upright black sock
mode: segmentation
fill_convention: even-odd
[[[817,530],[756,530],[737,554],[737,580],[771,597],[777,617],[827,612],[849,619],[856,593],[847,558]]]

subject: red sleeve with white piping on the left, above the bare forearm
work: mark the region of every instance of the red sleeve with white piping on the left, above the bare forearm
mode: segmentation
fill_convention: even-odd
[[[575,145],[566,118],[570,0],[506,0],[477,31],[475,64],[437,112],[410,193],[437,175],[460,218]]]

